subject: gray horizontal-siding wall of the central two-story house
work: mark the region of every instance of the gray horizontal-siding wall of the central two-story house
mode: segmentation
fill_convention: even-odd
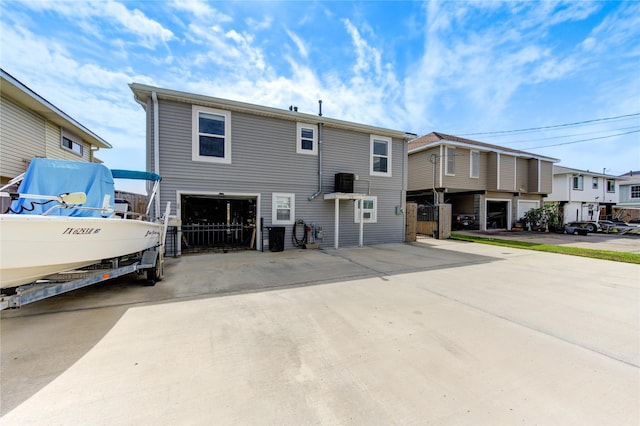
[[[153,109],[149,106],[147,164],[152,165]],[[213,164],[192,161],[191,104],[161,99],[158,109],[160,203],[164,206],[170,201],[172,214],[180,215],[178,193],[253,194],[259,195],[259,214],[267,227],[272,222],[272,193],[294,193],[295,218],[322,226],[325,238],[321,244],[332,246],[335,206],[323,194],[334,192],[336,173],[354,173],[360,178],[354,182],[354,191],[367,193],[370,188],[370,195],[378,200],[377,223],[364,224],[364,243],[404,240],[404,217],[396,214],[405,198],[404,141],[392,141],[392,176],[370,176],[370,134],[324,126],[323,194],[308,201],[318,189],[318,157],[296,153],[296,121],[232,112],[231,164]],[[354,222],[354,202],[340,201],[340,246],[358,244],[359,226]],[[291,229],[285,228],[285,248],[290,248]],[[259,235],[257,241],[262,241]]]

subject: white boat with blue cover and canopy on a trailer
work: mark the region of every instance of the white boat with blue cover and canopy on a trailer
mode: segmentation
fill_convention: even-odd
[[[52,165],[53,169],[50,167]],[[60,170],[54,169],[59,169],[56,166],[60,165],[67,168],[63,168],[63,174],[72,174],[72,182],[82,180],[85,176],[78,172],[78,167],[103,168],[97,176],[93,172],[89,175],[99,181],[97,186],[105,186],[105,180],[107,181],[106,196],[103,194],[105,191],[97,191],[96,194],[95,185],[86,182],[82,182],[80,186],[85,190],[88,188],[89,195],[84,191],[70,192],[76,190],[77,185],[70,191],[62,189],[74,184],[48,173],[51,170],[54,174],[59,173]],[[32,167],[37,167],[38,170],[30,174]],[[28,181],[33,184],[33,176],[36,176],[36,180],[44,180],[40,188],[35,185],[39,194],[31,193],[34,185],[23,187]],[[0,288],[20,286],[52,274],[99,263],[104,259],[142,252],[163,244],[166,228],[161,222],[114,214],[113,177],[155,180],[152,197],[160,180],[158,175],[152,173],[109,171],[94,163],[34,159],[18,193],[11,197],[14,200],[11,204],[12,212],[0,214]],[[56,181],[53,186],[60,188],[59,195],[42,193],[42,186],[51,186],[51,182],[48,182],[51,180]],[[97,200],[101,201],[98,203]],[[148,210],[149,208],[147,213]]]

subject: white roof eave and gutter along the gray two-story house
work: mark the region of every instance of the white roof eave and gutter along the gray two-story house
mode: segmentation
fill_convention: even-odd
[[[178,90],[163,89],[160,87],[148,86],[140,83],[131,83],[129,88],[138,103],[146,110],[146,102],[151,98],[151,93],[155,92],[158,99],[170,100],[175,102],[189,103],[192,105],[208,106],[213,108],[225,109],[232,112],[242,112],[263,117],[278,118],[281,120],[295,121],[307,124],[320,124],[324,126],[339,129],[359,131],[380,136],[388,136],[404,140],[415,138],[415,134],[403,132],[401,130],[386,129],[367,124],[353,123],[350,121],[337,120],[327,116],[319,116],[306,114],[303,112],[289,111],[286,109],[267,107],[262,105],[250,104],[246,102],[234,101],[230,99],[216,98],[213,96],[198,95],[195,93],[182,92]]]

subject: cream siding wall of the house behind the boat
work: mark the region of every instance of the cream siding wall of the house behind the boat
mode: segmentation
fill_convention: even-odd
[[[4,95],[0,95],[0,108],[0,175],[3,180],[23,173],[34,157],[91,161],[89,144],[82,142],[82,156],[63,148],[61,128],[44,117]]]

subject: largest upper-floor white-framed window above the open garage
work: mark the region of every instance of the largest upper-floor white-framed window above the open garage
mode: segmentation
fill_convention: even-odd
[[[193,161],[231,164],[231,113],[193,105]]]

